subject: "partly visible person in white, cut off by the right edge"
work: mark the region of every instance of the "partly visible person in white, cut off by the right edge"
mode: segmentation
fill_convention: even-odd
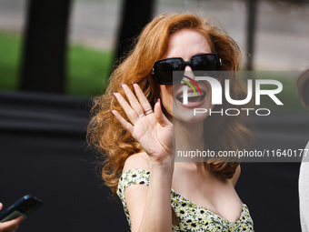
[[[309,69],[297,79],[297,91],[303,105],[309,109]],[[299,170],[299,209],[302,231],[309,231],[309,141]]]

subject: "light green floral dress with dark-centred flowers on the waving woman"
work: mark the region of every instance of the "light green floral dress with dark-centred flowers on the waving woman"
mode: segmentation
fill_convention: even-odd
[[[149,185],[150,172],[144,169],[132,169],[125,172],[119,179],[117,195],[123,202],[125,216],[131,227],[129,211],[125,203],[125,188],[132,185]],[[219,217],[204,207],[197,206],[171,190],[171,205],[179,220],[179,225],[173,225],[173,231],[254,231],[254,222],[248,207],[243,203],[240,218],[233,222]]]

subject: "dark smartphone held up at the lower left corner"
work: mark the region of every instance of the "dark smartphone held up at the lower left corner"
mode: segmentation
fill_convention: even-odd
[[[35,212],[36,209],[42,207],[43,202],[37,197],[26,195],[16,201],[11,207],[0,212],[0,222],[12,220],[16,217],[23,216],[24,219]]]

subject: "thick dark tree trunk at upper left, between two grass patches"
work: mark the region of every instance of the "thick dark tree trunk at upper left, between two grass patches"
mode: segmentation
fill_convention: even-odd
[[[65,92],[65,51],[71,0],[29,0],[20,88]]]

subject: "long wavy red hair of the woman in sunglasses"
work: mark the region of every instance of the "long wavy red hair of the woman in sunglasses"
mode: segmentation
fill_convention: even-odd
[[[103,157],[102,177],[105,185],[110,187],[113,193],[117,189],[127,157],[143,150],[133,136],[125,131],[110,113],[110,109],[115,109],[128,120],[124,109],[118,104],[113,93],[121,93],[125,96],[120,84],[131,86],[130,84],[134,82],[142,88],[146,98],[154,106],[154,99],[160,97],[159,86],[150,74],[154,62],[162,58],[167,51],[169,36],[184,28],[197,31],[205,36],[211,45],[212,52],[217,53],[221,58],[222,70],[235,71],[240,66],[242,55],[238,45],[222,28],[211,25],[200,16],[193,14],[158,15],[146,25],[137,37],[134,49],[126,55],[124,61],[116,67],[110,77],[105,95],[94,98],[92,119],[87,130],[88,143],[95,146],[97,152]],[[236,78],[231,78],[230,86],[231,97],[244,99],[244,87]],[[225,102],[222,107],[227,108],[227,103]],[[251,133],[241,123],[239,117],[207,117],[204,125],[204,128],[207,128],[204,132],[208,148],[227,150],[235,147],[242,148],[249,144]],[[239,163],[213,162],[209,165],[219,176],[231,178]]]

